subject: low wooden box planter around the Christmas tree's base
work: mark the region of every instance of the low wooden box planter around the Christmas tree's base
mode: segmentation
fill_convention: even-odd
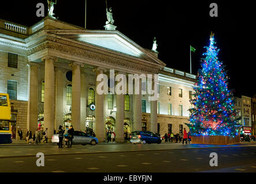
[[[192,136],[192,144],[217,144],[228,145],[240,143],[240,136]]]

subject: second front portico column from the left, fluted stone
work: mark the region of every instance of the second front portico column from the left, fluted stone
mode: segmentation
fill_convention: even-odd
[[[83,64],[73,62],[72,66],[72,125],[75,131],[80,131],[81,124],[81,67]]]

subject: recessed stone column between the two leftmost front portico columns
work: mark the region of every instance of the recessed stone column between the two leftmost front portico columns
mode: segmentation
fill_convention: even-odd
[[[64,72],[62,68],[55,68],[55,130],[58,131],[60,125],[63,124],[63,87]]]

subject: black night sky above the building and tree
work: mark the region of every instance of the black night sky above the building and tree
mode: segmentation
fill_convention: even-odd
[[[8,1],[1,4],[0,18],[31,26],[36,17],[36,3],[46,0]],[[210,3],[218,5],[218,17],[210,17]],[[159,59],[168,67],[197,74],[199,61],[209,34],[215,33],[219,59],[228,70],[229,89],[235,95],[252,96],[255,91],[255,7],[253,1],[149,1],[108,0],[117,30],[144,48],[152,48],[157,37]],[[1,2],[2,3],[2,2]],[[84,27],[85,0],[57,0],[54,13],[61,21]],[[8,7],[8,8],[7,8]],[[104,29],[106,1],[87,0],[87,29]],[[253,45],[253,46],[252,46]]]

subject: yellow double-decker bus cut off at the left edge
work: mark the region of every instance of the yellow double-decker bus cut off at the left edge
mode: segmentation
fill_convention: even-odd
[[[0,93],[0,144],[12,143],[10,118],[11,110],[9,94]]]

